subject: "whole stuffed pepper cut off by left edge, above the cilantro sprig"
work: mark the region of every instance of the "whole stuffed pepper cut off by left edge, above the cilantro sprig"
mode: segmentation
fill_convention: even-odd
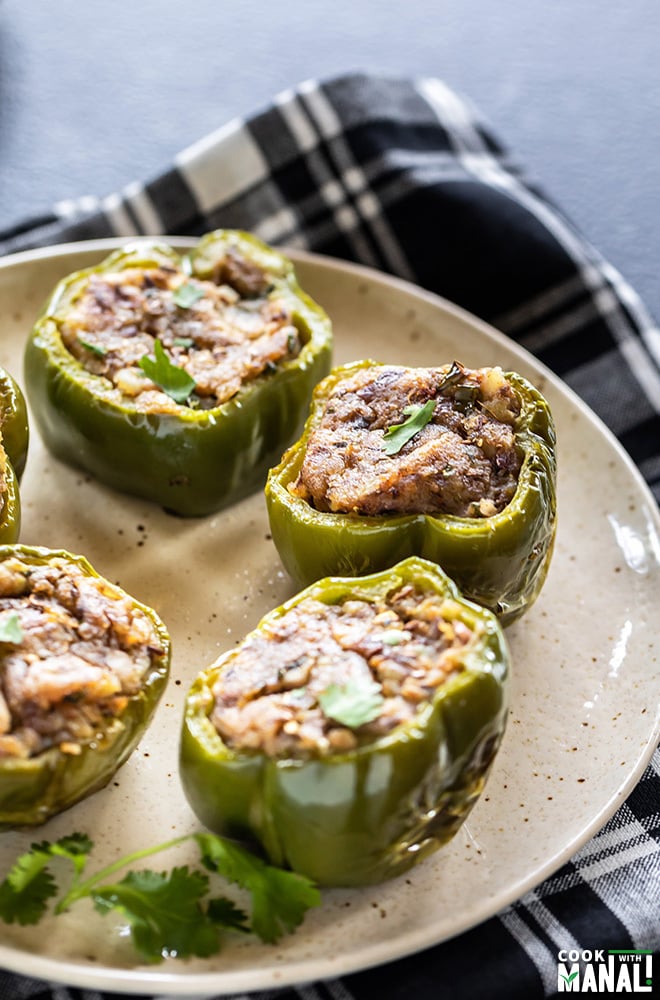
[[[0,546],[0,828],[43,823],[107,784],[169,663],[156,612],[82,556]]]

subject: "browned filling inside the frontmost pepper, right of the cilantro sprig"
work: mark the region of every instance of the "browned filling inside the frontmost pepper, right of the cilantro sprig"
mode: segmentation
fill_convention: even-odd
[[[405,585],[383,600],[305,598],[251,634],[219,673],[211,720],[231,747],[269,756],[351,750],[411,719],[460,670],[472,632],[456,605]],[[376,714],[342,724],[324,700],[375,693]]]

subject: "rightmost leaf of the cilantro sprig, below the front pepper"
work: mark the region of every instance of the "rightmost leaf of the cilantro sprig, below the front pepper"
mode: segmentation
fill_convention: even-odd
[[[211,871],[236,882],[252,896],[252,930],[272,944],[302,923],[306,910],[321,901],[309,879],[266,864],[239,844],[197,833],[202,861]]]

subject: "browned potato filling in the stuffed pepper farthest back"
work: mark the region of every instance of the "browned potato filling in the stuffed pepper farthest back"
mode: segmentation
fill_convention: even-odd
[[[288,305],[269,293],[257,265],[229,252],[213,278],[169,266],[92,274],[60,322],[62,341],[110,381],[118,401],[175,412],[178,404],[139,364],[153,358],[158,339],[168,360],[194,379],[187,405],[219,406],[302,345]]]

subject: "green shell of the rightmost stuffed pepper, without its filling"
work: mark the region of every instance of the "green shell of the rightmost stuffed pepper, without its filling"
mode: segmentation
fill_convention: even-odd
[[[337,384],[375,362],[333,369],[316,388],[302,436],[271,469],[266,501],[273,541],[300,586],[332,574],[358,576],[408,555],[438,563],[466,597],[518,618],[543,586],[555,537],[556,462],[552,415],[541,393],[515,372],[505,377],[521,401],[515,441],[524,460],[510,503],[491,517],[318,511],[292,494],[307,441]]]

